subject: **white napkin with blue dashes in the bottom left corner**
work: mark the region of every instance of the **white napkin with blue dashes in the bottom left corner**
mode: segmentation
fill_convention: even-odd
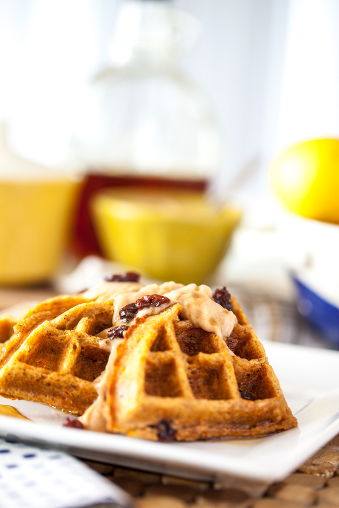
[[[0,508],[133,506],[132,498],[74,457],[0,439]]]

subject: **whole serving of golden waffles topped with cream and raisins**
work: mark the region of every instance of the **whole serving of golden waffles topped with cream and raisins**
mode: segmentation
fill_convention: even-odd
[[[12,327],[4,318],[0,395],[82,415],[71,426],[191,441],[297,425],[225,287],[112,275],[38,304],[9,338]]]

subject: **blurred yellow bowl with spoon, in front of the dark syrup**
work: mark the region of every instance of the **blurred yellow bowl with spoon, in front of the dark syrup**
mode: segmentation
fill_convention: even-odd
[[[241,218],[202,193],[143,187],[106,189],[91,209],[108,259],[160,280],[197,284],[217,267]]]

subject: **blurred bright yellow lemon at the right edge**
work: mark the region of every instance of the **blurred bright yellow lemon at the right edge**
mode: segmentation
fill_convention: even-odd
[[[287,148],[273,160],[270,182],[291,212],[339,224],[339,139]]]

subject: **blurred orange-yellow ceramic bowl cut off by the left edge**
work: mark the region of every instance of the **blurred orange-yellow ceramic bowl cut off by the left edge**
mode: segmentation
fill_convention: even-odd
[[[79,182],[0,180],[0,284],[48,280],[60,262]]]

